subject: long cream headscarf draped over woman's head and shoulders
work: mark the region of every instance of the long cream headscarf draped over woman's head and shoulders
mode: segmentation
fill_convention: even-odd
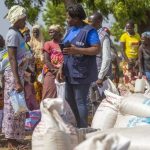
[[[33,36],[33,29],[38,29],[39,30],[39,37],[35,38]],[[32,34],[31,34],[31,40],[29,42],[29,45],[31,47],[31,49],[33,50],[33,52],[35,53],[35,58],[40,58],[41,60],[43,60],[43,45],[44,45],[44,38],[43,38],[43,34],[41,31],[41,28],[39,25],[34,25],[32,27]]]

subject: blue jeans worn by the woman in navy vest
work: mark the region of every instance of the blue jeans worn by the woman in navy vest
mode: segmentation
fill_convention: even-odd
[[[77,120],[77,126],[87,127],[88,108],[87,96],[90,84],[70,84],[66,82],[65,98]]]

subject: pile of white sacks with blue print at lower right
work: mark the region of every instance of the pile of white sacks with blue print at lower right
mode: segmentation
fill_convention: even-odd
[[[86,140],[76,150],[85,147],[89,148],[87,150],[149,150],[149,85],[145,93],[119,96],[106,90],[105,95],[91,124],[101,131],[86,134]]]

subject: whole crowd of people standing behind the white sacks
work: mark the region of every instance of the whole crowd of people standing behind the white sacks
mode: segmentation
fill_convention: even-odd
[[[0,36],[0,71],[1,92],[4,92],[2,133],[8,140],[8,148],[25,146],[22,139],[26,114],[14,114],[9,95],[14,89],[23,91],[28,109],[35,110],[43,99],[57,97],[55,80],[65,81],[65,100],[75,114],[77,127],[86,128],[89,91],[103,87],[107,78],[119,83],[117,50],[110,30],[102,27],[102,14],[96,12],[87,17],[82,5],[69,6],[66,33],[63,34],[60,25],[51,25],[50,41],[44,41],[39,25],[32,27],[30,36],[23,7],[11,7],[6,19],[11,27],[6,40]],[[143,75],[150,82],[150,32],[140,37],[134,25],[128,21],[126,32],[120,38],[126,85],[134,84],[135,79]]]

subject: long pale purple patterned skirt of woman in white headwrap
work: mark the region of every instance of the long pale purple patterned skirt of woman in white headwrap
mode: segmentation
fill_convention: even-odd
[[[20,78],[23,73],[20,73]],[[21,140],[25,137],[25,117],[26,114],[14,115],[14,110],[11,105],[11,97],[9,92],[15,88],[15,79],[11,69],[4,72],[4,117],[2,124],[2,132],[5,138]],[[22,78],[23,81],[23,78]]]

